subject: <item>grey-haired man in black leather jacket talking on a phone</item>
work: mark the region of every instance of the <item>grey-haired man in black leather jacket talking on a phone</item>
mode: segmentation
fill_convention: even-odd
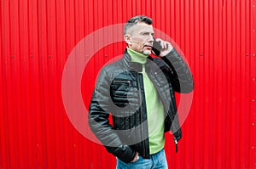
[[[117,168],[167,168],[164,132],[172,131],[176,144],[182,137],[174,92],[191,92],[192,75],[170,42],[154,42],[147,16],[128,20],[124,39],[123,59],[104,66],[97,79],[90,128],[117,157]],[[152,58],[157,42],[159,58]]]

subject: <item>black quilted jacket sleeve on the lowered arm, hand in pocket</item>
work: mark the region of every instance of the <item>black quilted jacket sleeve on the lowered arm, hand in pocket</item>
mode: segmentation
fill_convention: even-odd
[[[113,104],[109,92],[110,83],[106,70],[102,69],[90,101],[89,126],[109,153],[117,156],[120,161],[131,162],[136,151],[129,145],[122,144],[118,134],[109,124],[108,117]]]

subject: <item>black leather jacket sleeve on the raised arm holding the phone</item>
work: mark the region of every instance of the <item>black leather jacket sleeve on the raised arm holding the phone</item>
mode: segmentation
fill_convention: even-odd
[[[189,93],[193,91],[193,76],[189,66],[177,53],[175,48],[169,54],[162,58],[172,70],[171,82],[174,91],[178,93]]]

